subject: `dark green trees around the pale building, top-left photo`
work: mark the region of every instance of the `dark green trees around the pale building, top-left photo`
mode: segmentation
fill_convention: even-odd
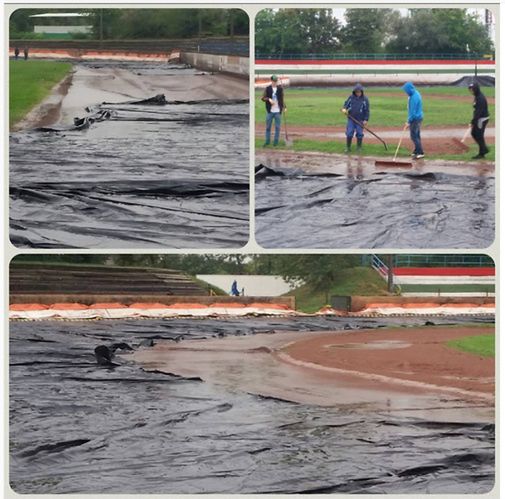
[[[11,39],[34,38],[35,24],[67,25],[68,18],[32,18],[43,13],[86,13],[92,26],[76,38],[130,40],[249,35],[249,16],[240,9],[18,9],[9,19]]]

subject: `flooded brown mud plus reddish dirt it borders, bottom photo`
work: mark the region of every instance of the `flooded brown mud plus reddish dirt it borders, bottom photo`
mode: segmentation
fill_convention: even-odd
[[[492,331],[286,331],[178,344],[160,341],[128,357],[148,371],[198,376],[232,391],[303,404],[492,421],[494,359],[445,346],[449,339]],[[376,348],[343,346],[367,342]]]

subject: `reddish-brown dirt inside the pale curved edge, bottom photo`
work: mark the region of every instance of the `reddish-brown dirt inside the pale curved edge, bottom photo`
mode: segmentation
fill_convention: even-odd
[[[490,334],[489,328],[409,328],[318,334],[283,348],[318,366],[393,379],[494,393],[495,359],[459,351],[447,341]],[[364,386],[373,381],[362,378]]]

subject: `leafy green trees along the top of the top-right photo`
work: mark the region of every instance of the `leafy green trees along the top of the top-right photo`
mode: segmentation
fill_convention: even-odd
[[[491,54],[487,27],[466,9],[265,9],[256,16],[256,57],[295,54]]]

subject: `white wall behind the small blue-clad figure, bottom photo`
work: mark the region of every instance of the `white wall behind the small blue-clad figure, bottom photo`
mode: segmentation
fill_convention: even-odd
[[[293,289],[282,277],[271,275],[201,274],[196,277],[226,293],[236,280],[239,291],[244,288],[244,296],[280,296]]]

